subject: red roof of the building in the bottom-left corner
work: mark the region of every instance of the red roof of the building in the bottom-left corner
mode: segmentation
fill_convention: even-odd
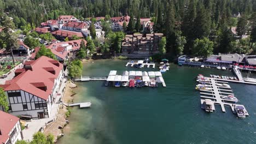
[[[9,133],[18,121],[18,117],[0,111],[0,130],[2,134],[0,135],[0,143],[5,143],[9,139]]]

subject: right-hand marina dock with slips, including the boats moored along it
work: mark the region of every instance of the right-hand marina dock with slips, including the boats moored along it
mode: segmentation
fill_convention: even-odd
[[[243,107],[243,110],[245,111],[245,116],[249,116],[247,110],[245,109],[245,106],[236,104],[238,100],[234,97],[234,93],[232,93],[232,90],[227,82],[219,81],[214,77],[203,77],[202,75],[197,77],[197,79],[202,80],[199,81],[200,83],[202,83],[202,85],[211,86],[207,90],[204,89],[205,87],[197,88],[200,91],[202,109],[206,109],[206,100],[208,100],[208,103],[212,103],[211,110],[215,110],[214,104],[216,104],[220,105],[223,112],[226,112],[225,106],[230,106],[232,112],[237,113],[236,106],[240,106]],[[224,87],[221,85],[223,85]],[[209,102],[209,99],[211,100],[211,102]]]

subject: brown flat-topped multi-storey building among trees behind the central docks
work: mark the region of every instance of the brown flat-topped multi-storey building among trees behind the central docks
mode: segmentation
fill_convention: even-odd
[[[124,56],[144,55],[149,56],[158,53],[158,44],[164,36],[162,33],[125,35],[122,42],[122,54]]]

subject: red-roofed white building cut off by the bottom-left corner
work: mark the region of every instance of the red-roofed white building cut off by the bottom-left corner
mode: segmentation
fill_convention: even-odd
[[[0,143],[15,144],[22,139],[20,118],[0,111]]]

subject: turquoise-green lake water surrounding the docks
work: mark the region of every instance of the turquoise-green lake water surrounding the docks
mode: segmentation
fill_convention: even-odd
[[[86,62],[83,75],[101,77],[110,70],[118,70],[118,74],[125,70],[153,70],[126,68],[126,62]],[[171,64],[163,74],[166,88],[159,85],[131,89],[105,87],[103,81],[77,82],[74,102],[91,101],[92,105],[90,109],[72,108],[71,129],[58,143],[256,143],[256,86],[229,83],[249,117],[237,118],[229,107],[223,113],[218,105],[216,111],[206,113],[201,109],[200,94],[195,91],[198,74],[233,76],[229,70]]]

